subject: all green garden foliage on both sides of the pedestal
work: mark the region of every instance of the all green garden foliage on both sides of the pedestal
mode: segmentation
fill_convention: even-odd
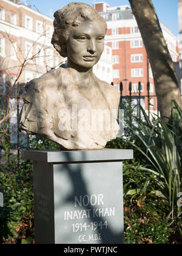
[[[134,149],[135,158],[124,163],[124,233],[125,243],[180,243],[182,209],[178,207],[181,185],[181,119],[175,102],[170,124],[153,115],[149,119],[141,108],[141,118],[123,102],[123,137],[107,148]],[[8,127],[8,123],[5,124]],[[33,166],[10,148],[7,133],[1,134],[0,243],[33,243]],[[29,149],[56,150],[59,146],[39,137],[29,138]]]

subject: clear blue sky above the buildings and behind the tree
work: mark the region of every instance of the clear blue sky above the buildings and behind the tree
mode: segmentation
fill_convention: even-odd
[[[101,1],[101,0],[100,0]],[[21,1],[24,3],[24,0]],[[55,12],[58,9],[64,7],[64,5],[69,2],[85,2],[86,4],[93,5],[93,0],[26,0],[27,4],[32,5],[32,8],[36,8],[39,12],[50,16],[50,10]],[[95,1],[99,2],[99,1]],[[128,0],[105,0],[110,6],[116,5],[125,5],[129,4]],[[174,33],[174,35],[178,35],[178,0],[153,0],[153,5],[157,11],[157,15],[160,21],[162,21],[170,30]]]

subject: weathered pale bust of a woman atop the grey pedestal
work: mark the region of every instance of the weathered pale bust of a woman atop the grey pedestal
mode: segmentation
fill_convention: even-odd
[[[120,102],[118,91],[93,74],[104,50],[106,21],[90,5],[76,2],[54,17],[52,44],[67,57],[67,66],[29,82],[19,130],[62,149],[102,149],[118,133]]]

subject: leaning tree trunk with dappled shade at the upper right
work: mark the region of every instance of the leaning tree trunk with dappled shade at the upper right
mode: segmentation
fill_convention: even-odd
[[[129,0],[153,71],[161,118],[169,121],[170,103],[182,109],[178,79],[152,0]]]

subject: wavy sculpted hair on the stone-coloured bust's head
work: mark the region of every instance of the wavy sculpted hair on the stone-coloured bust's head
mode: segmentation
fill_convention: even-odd
[[[66,42],[70,32],[83,21],[102,20],[107,31],[104,18],[90,5],[81,2],[71,2],[61,10],[56,11],[54,17],[55,31],[51,43],[62,57],[67,57]]]

